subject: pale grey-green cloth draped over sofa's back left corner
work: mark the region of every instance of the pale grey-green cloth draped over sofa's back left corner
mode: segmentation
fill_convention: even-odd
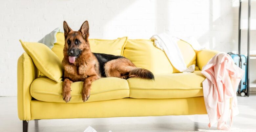
[[[55,28],[51,33],[47,34],[45,37],[43,37],[42,39],[40,39],[38,42],[39,43],[43,43],[45,44],[47,47],[49,47],[50,49],[53,48],[54,43],[57,42],[57,38],[56,38],[56,34],[61,32],[60,28],[57,27]]]

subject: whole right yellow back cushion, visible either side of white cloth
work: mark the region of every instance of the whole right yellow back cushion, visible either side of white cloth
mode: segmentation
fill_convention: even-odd
[[[185,64],[187,66],[196,64],[196,53],[191,45],[180,40],[178,46]],[[137,67],[148,69],[154,74],[179,73],[172,66],[164,51],[156,48],[154,40],[151,39],[128,39],[124,48],[124,56]]]

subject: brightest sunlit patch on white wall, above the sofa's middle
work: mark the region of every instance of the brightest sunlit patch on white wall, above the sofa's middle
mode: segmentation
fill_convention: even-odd
[[[114,17],[109,20],[103,16],[107,21],[100,27],[100,31],[103,38],[149,38],[155,32],[155,14],[154,1],[136,0],[122,10],[114,10]]]

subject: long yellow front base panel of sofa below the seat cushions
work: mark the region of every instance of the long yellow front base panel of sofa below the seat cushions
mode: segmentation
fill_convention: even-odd
[[[206,114],[203,97],[123,98],[87,103],[31,101],[31,120]]]

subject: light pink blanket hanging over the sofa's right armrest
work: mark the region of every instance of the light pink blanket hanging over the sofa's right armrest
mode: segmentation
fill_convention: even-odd
[[[202,74],[203,96],[210,120],[209,127],[218,122],[218,130],[229,130],[232,118],[238,115],[236,92],[244,70],[234,64],[227,53],[216,54],[205,66]],[[226,122],[230,119],[230,126]]]

